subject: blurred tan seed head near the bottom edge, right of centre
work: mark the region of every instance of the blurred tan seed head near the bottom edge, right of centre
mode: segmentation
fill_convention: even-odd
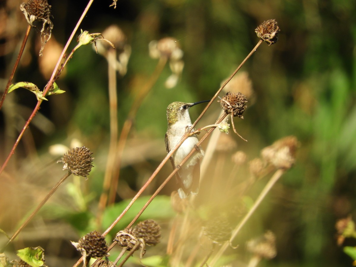
[[[272,259],[277,255],[276,236],[267,231],[263,237],[248,241],[247,250],[261,258]]]

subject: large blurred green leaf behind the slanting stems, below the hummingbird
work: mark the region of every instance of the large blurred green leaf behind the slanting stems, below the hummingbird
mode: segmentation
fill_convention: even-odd
[[[127,227],[138,211],[140,211],[143,205],[146,204],[149,198],[150,196],[138,198],[127,213],[122,217],[119,223],[114,227],[115,230],[112,230],[111,232],[118,232]],[[123,200],[120,203],[107,208],[103,216],[103,227],[107,228],[117,218],[117,216],[121,214],[130,201],[131,199]],[[143,211],[139,220],[168,219],[172,218],[174,215],[175,213],[171,207],[171,198],[165,195],[158,195],[152,200],[150,205],[147,206],[146,210]]]

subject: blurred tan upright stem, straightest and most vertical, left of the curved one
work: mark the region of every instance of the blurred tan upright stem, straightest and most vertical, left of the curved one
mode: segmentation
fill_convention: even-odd
[[[100,195],[98,214],[96,223],[101,224],[101,217],[103,215],[106,203],[108,202],[108,194],[111,185],[112,171],[116,164],[116,145],[117,145],[117,92],[116,92],[116,50],[109,49],[108,51],[108,80],[109,80],[109,110],[110,110],[110,142],[108,158],[106,159],[106,169],[103,182],[103,192]]]

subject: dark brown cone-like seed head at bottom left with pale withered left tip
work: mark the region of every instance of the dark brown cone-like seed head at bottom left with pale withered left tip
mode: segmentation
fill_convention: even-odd
[[[100,258],[109,256],[108,245],[106,244],[105,238],[97,231],[86,234],[79,239],[78,243],[73,241],[71,242],[73,246],[82,253],[84,258]]]

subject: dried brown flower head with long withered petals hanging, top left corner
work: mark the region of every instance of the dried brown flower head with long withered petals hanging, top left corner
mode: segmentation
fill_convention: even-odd
[[[29,0],[27,3],[22,3],[20,5],[20,10],[27,20],[27,23],[31,27],[36,27],[33,22],[42,22],[41,28],[41,49],[40,57],[43,55],[43,48],[45,47],[48,40],[51,38],[53,23],[50,19],[51,17],[51,6],[48,5],[47,0]]]

